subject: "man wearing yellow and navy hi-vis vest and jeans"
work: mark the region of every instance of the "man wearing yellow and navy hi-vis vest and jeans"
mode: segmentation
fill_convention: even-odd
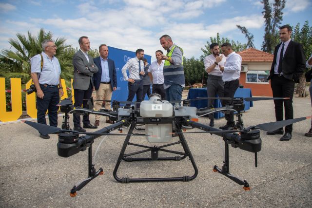
[[[181,101],[182,90],[185,87],[185,78],[183,71],[183,50],[172,42],[168,35],[159,38],[161,46],[168,52],[167,55],[161,55],[165,60],[164,64],[164,89],[166,91],[166,100]]]

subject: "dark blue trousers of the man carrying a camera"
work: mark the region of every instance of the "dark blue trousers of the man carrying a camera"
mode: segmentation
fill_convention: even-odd
[[[47,124],[45,120],[45,113],[48,112],[50,126],[58,126],[58,110],[59,106],[59,88],[58,87],[44,87],[40,84],[43,92],[43,98],[37,97],[37,122],[40,124]]]

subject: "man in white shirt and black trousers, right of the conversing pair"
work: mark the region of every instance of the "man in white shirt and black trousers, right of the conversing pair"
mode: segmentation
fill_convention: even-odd
[[[240,77],[240,70],[242,67],[242,57],[236,54],[233,49],[232,45],[228,42],[221,45],[221,50],[226,56],[226,63],[224,67],[220,66],[221,72],[223,72],[223,81],[224,81],[224,97],[234,97],[234,94],[239,87],[239,77]],[[222,106],[232,105],[233,100],[223,100]],[[234,113],[226,112],[225,119],[227,123],[225,126],[219,127],[223,130],[233,130],[235,127],[234,122]]]

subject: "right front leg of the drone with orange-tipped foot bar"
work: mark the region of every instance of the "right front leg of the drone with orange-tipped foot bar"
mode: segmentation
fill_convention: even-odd
[[[227,142],[225,142],[225,158],[223,161],[223,166],[222,166],[222,170],[220,168],[218,168],[216,165],[214,166],[214,172],[219,172],[222,175],[230,178],[231,180],[233,180],[235,183],[239,184],[239,185],[243,185],[243,189],[244,190],[250,190],[249,184],[247,183],[246,180],[241,180],[240,178],[232,175],[230,173],[230,155],[229,155],[229,144]]]

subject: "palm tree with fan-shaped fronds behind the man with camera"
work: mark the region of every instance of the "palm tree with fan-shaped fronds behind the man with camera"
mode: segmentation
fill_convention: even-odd
[[[11,66],[7,77],[21,77],[22,84],[24,84],[30,79],[31,57],[42,52],[41,42],[45,39],[53,40],[53,34],[41,28],[37,36],[32,35],[30,31],[28,31],[28,36],[19,33],[16,36],[16,39],[9,39],[11,48],[13,47],[14,50],[1,50],[0,60]],[[70,57],[65,57],[64,51],[70,46],[65,45],[65,41],[65,38],[56,38],[54,40],[55,45],[58,47],[56,57],[59,58],[61,66],[61,78],[69,81],[73,77],[73,67]]]

